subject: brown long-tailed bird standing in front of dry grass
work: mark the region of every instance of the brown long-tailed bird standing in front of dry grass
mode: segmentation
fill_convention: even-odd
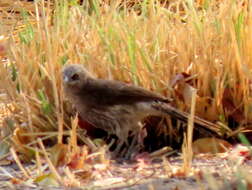
[[[142,145],[141,122],[148,116],[173,115],[182,121],[188,119],[187,113],[170,105],[171,98],[136,85],[96,78],[82,64],[65,65],[62,81],[64,94],[80,118],[108,134],[116,135],[121,145],[127,144],[130,135],[136,137],[133,146]],[[197,123],[205,127],[211,125],[205,120],[198,120]]]

